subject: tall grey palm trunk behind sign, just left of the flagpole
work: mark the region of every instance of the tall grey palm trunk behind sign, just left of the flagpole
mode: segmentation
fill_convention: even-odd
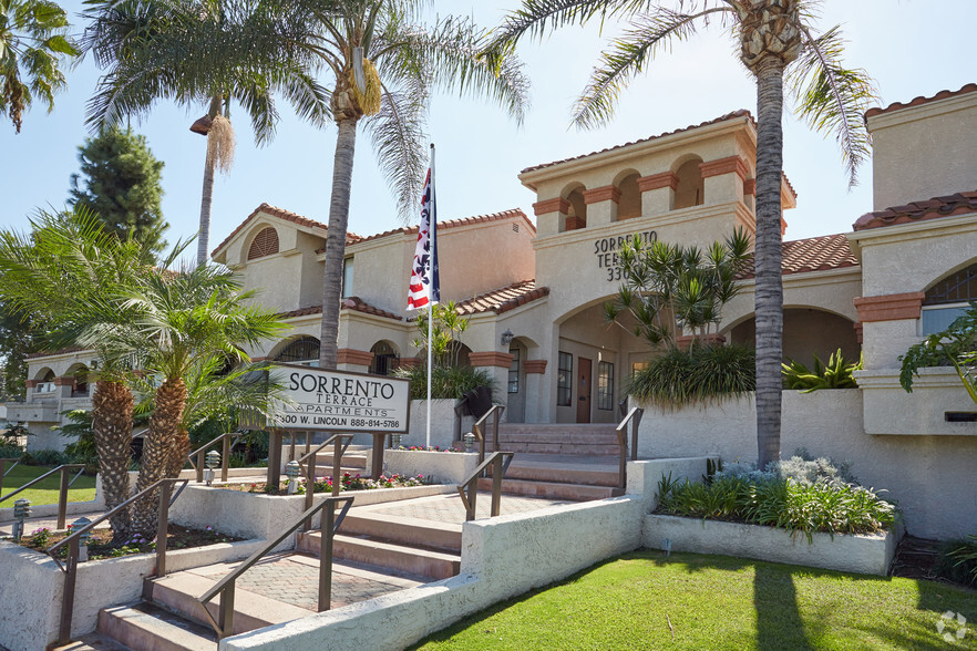
[[[322,281],[322,331],[319,338],[319,368],[335,370],[339,341],[339,301],[342,298],[342,260],[349,226],[350,187],[357,148],[356,117],[337,120],[336,156],[332,162],[332,200],[329,203],[329,231],[326,237],[326,270]]]

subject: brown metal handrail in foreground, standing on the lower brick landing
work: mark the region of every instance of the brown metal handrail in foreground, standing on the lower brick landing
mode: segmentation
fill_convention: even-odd
[[[339,512],[339,516],[336,515],[336,505],[340,502],[344,502],[342,509]],[[332,601],[332,537],[336,535],[336,531],[339,529],[339,525],[342,524],[346,514],[349,513],[349,508],[352,506],[353,496],[349,495],[347,497],[327,497],[322,500],[322,504],[318,506],[313,506],[312,508],[306,510],[290,527],[288,527],[278,538],[268,542],[265,547],[251,554],[247,560],[241,562],[237,569],[233,572],[220,579],[216,586],[204,592],[200,597],[197,598],[197,601],[204,607],[204,613],[207,616],[207,619],[210,620],[210,626],[214,631],[217,633],[219,639],[227,638],[234,632],[234,582],[240,577],[244,572],[251,568],[256,562],[261,560],[261,558],[267,555],[269,551],[278,547],[282,540],[285,540],[288,536],[290,536],[296,529],[298,529],[302,523],[306,520],[310,520],[312,516],[316,515],[317,512],[326,508],[322,514],[322,523],[321,523],[321,540],[319,548],[319,612],[323,610],[329,610]],[[207,603],[214,599],[217,595],[220,595],[220,607],[217,613],[217,620],[210,614],[210,609],[207,608]]]

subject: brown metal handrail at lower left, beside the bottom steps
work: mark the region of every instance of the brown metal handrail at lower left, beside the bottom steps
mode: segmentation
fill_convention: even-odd
[[[174,484],[182,483],[183,486],[179,487],[179,490],[173,495],[173,486]],[[74,585],[78,579],[78,557],[79,557],[79,544],[81,537],[88,534],[90,530],[95,528],[95,525],[101,524],[102,521],[111,518],[113,515],[127,507],[130,504],[144,497],[147,493],[160,489],[160,518],[158,525],[156,528],[156,576],[165,577],[166,576],[166,533],[169,524],[169,507],[176,502],[176,498],[179,497],[183,489],[186,488],[189,479],[160,479],[144,488],[137,495],[134,495],[113,508],[112,510],[103,514],[96,520],[85,525],[78,531],[72,531],[71,536],[61,540],[60,542],[55,542],[51,547],[49,547],[45,551],[48,556],[54,559],[54,562],[58,564],[58,567],[61,568],[61,571],[64,572],[64,593],[61,597],[61,622],[58,628],[58,644],[66,644],[71,639],[71,616],[74,611]],[[58,560],[56,552],[68,545],[68,561],[64,566],[61,565],[61,561]]]

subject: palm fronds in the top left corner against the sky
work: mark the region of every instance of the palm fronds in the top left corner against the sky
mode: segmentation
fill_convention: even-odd
[[[79,54],[66,31],[68,16],[54,2],[0,0],[0,111],[17,133],[34,95],[54,110],[54,93],[64,87],[58,65]]]

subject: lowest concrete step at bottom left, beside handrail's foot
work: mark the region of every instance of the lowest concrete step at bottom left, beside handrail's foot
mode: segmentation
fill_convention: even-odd
[[[151,603],[99,611],[99,632],[138,651],[217,649],[217,633]]]

